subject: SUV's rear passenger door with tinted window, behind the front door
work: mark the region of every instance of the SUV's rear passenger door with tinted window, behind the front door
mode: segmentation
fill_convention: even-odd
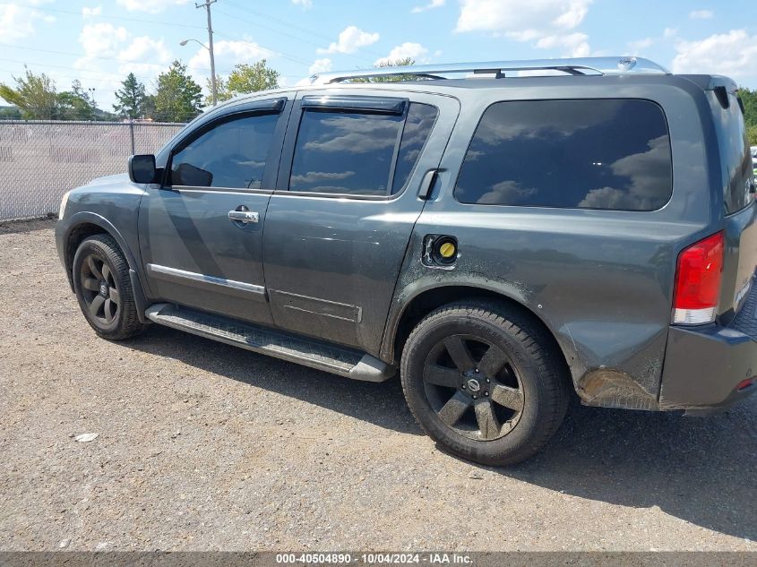
[[[457,99],[398,90],[298,95],[263,237],[277,325],[378,351],[418,192],[458,111]]]

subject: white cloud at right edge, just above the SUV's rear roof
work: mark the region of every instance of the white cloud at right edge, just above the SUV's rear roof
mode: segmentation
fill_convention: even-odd
[[[700,41],[675,44],[673,73],[718,73],[734,79],[757,80],[757,35],[746,30],[716,33]]]

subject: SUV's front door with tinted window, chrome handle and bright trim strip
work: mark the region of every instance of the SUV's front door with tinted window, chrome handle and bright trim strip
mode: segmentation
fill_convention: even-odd
[[[262,234],[290,106],[284,99],[256,100],[176,143],[164,184],[148,190],[140,210],[153,296],[272,323]]]

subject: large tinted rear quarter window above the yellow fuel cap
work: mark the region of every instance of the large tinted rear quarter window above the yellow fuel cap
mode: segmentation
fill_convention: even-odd
[[[495,103],[454,192],[464,203],[605,210],[657,210],[672,193],[665,115],[635,99]]]

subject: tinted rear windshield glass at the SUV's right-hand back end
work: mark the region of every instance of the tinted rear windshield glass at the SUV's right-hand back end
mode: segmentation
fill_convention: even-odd
[[[727,108],[720,104],[714,91],[710,90],[708,95],[718,131],[723,202],[726,214],[731,214],[744,209],[754,200],[754,194],[750,191],[753,176],[752,156],[746,138],[744,113],[735,94],[728,95]]]

